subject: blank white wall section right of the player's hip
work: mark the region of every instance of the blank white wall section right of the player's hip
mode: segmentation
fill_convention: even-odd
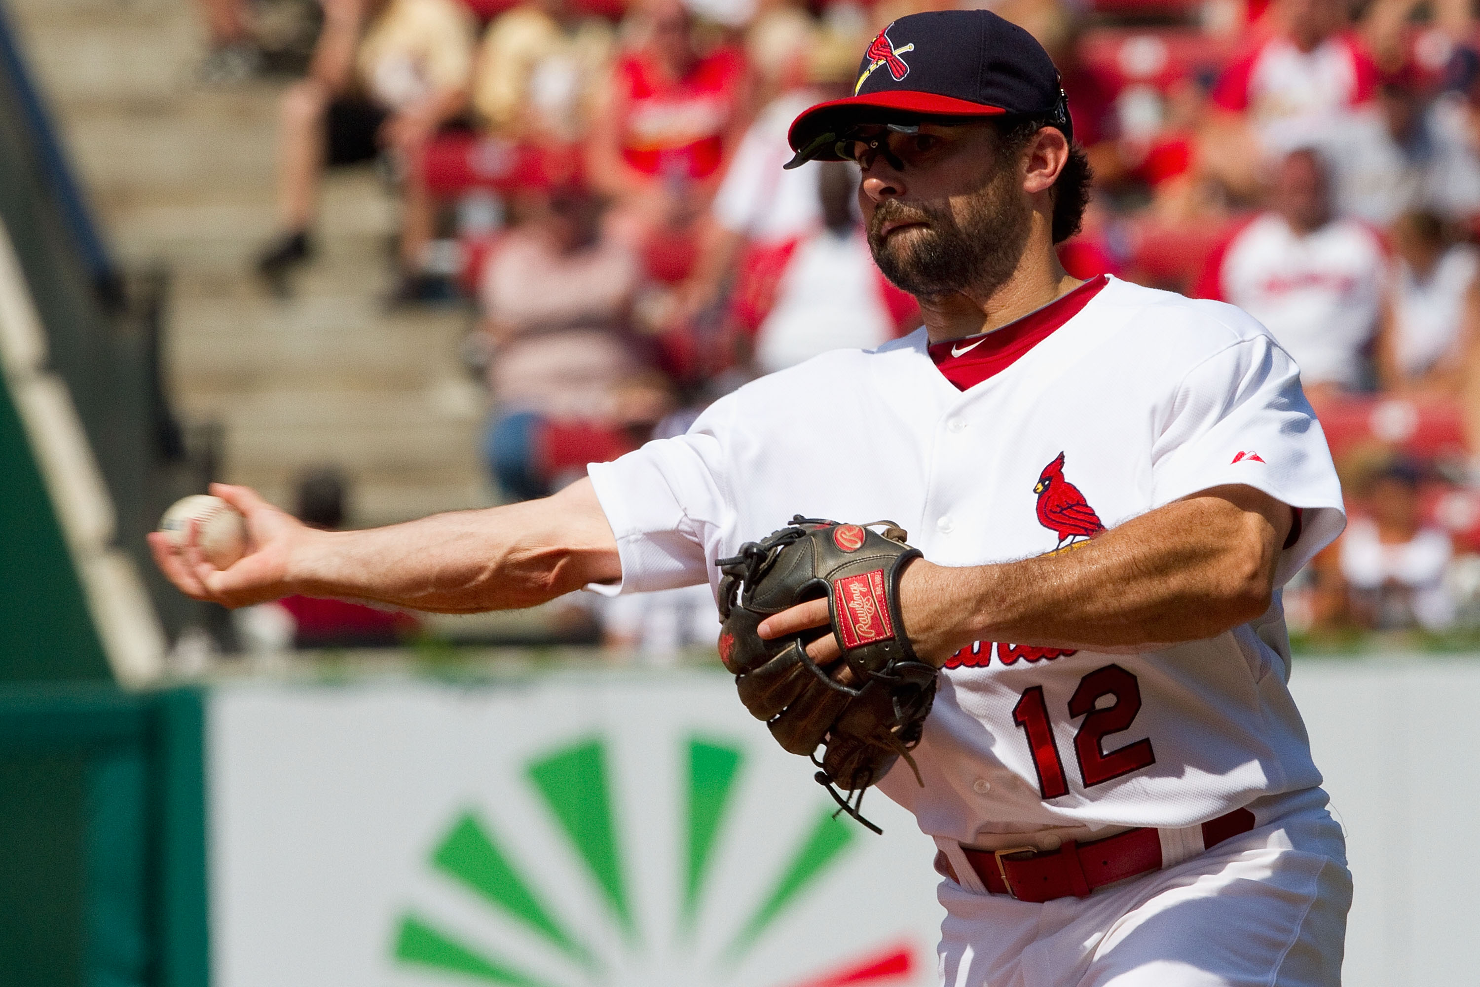
[[[1291,690],[1347,833],[1342,983],[1480,983],[1480,661],[1296,658]]]

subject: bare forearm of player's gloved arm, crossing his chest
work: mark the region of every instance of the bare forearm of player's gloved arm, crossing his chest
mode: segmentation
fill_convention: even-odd
[[[1268,607],[1289,528],[1283,505],[1228,490],[1240,503],[1181,500],[1060,555],[924,568],[912,595],[934,602],[910,633],[938,635],[926,644],[932,654],[972,641],[1137,647],[1222,633]]]

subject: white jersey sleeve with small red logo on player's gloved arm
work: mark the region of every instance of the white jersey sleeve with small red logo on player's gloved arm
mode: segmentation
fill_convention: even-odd
[[[1262,333],[1231,343],[1183,377],[1151,448],[1151,482],[1157,508],[1228,484],[1299,508],[1299,533],[1280,553],[1277,586],[1347,522],[1336,468],[1301,391],[1299,370]]]

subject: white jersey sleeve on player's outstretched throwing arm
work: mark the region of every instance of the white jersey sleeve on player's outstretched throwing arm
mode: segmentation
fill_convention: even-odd
[[[709,582],[709,559],[734,513],[713,428],[722,405],[710,407],[685,435],[588,466],[622,561],[620,583],[588,589],[614,596]]]

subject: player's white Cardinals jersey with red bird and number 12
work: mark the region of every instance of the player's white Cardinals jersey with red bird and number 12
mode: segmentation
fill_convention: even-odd
[[[941,565],[1042,555],[1248,484],[1302,509],[1283,585],[1344,524],[1294,361],[1239,309],[1095,278],[1017,323],[836,351],[715,402],[682,437],[591,466],[622,590],[700,580],[793,513],[889,518]],[[941,676],[882,783],[941,841],[1187,827],[1320,783],[1274,604],[1129,654],[987,642]],[[1000,841],[999,841],[1000,843]]]

